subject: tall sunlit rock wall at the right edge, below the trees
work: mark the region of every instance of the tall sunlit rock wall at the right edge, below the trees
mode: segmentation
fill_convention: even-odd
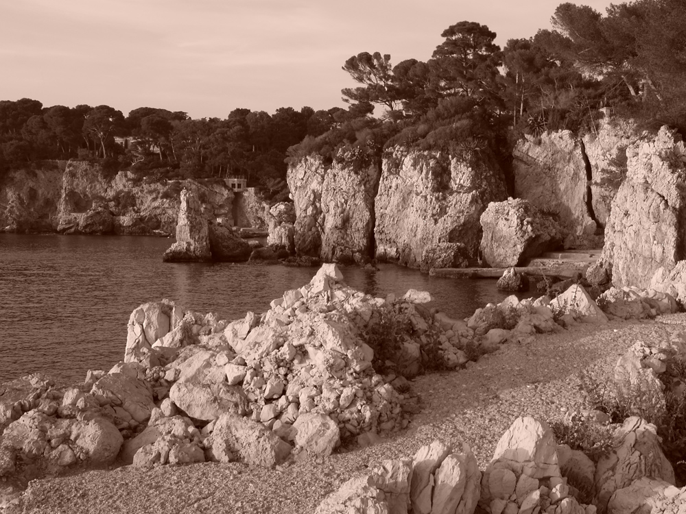
[[[596,267],[612,263],[617,287],[645,288],[659,267],[686,258],[686,147],[672,130],[626,149],[628,172],[612,204]]]

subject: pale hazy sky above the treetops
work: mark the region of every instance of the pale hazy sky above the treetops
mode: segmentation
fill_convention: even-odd
[[[0,100],[226,118],[344,106],[357,53],[427,60],[476,21],[528,38],[561,0],[0,0]],[[600,12],[610,0],[574,1]],[[614,3],[619,3],[615,0]]]

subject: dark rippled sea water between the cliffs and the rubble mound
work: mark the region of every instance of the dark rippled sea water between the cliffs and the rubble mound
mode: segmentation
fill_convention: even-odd
[[[80,382],[123,358],[126,323],[142,303],[169,298],[224,319],[268,310],[314,268],[169,264],[166,238],[0,234],[0,383],[40,371]],[[395,265],[342,267],[348,285],[372,295],[430,291],[433,304],[466,317],[505,297],[491,280],[429,277]]]

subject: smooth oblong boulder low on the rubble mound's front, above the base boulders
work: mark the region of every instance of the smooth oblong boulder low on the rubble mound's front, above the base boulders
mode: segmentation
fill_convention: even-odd
[[[171,400],[190,417],[211,421],[224,413],[244,416],[250,409],[242,387],[228,384],[176,382],[169,390]]]

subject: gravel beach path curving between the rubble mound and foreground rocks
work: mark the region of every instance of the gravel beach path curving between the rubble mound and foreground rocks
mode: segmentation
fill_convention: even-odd
[[[468,443],[484,469],[516,417],[551,421],[584,407],[580,371],[611,372],[632,343],[669,341],[685,328],[686,314],[579,324],[523,345],[504,345],[460,371],[418,377],[412,394],[421,398],[421,413],[407,430],[367,448],[342,449],[322,459],[295,456],[272,470],[237,463],[129,466],[34,480],[20,504],[3,514],[310,514],[354,474],[386,458],[412,456],[434,439]]]

